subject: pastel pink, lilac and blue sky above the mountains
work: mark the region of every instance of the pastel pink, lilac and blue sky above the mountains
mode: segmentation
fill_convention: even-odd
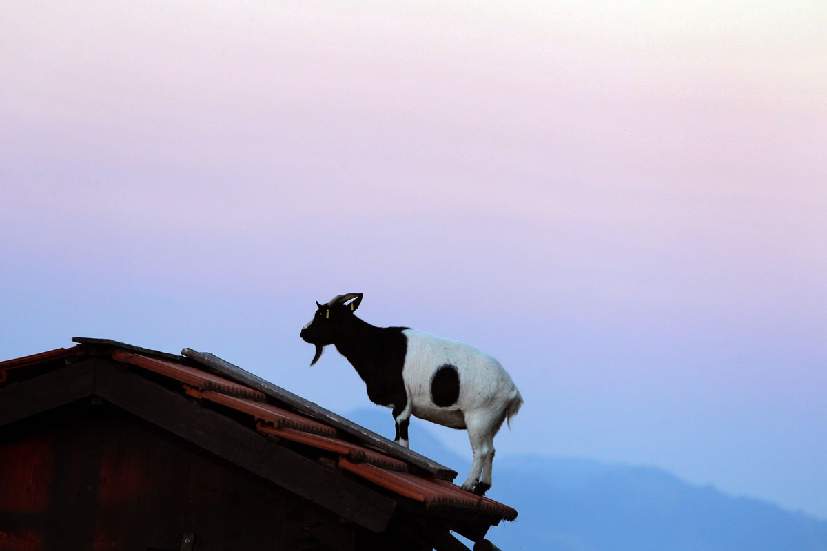
[[[653,465],[827,519],[825,25],[820,0],[3,2],[0,357],[189,347],[347,413],[363,383],[299,329],[364,292],[366,321],[504,364],[495,464]]]

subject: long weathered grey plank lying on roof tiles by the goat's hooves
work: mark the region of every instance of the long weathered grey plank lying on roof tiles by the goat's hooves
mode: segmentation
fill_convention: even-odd
[[[257,377],[224,359],[218,358],[218,356],[214,354],[198,352],[193,349],[183,349],[181,350],[181,354],[202,364],[208,368],[208,370],[213,371],[213,373],[219,373],[224,377],[264,392],[267,396],[273,397],[275,400],[293,407],[296,411],[299,411],[299,413],[304,413],[304,415],[311,416],[313,419],[329,423],[337,429],[342,430],[342,432],[355,436],[361,443],[370,444],[375,449],[385,452],[385,454],[390,454],[394,458],[403,459],[411,465],[430,473],[435,478],[452,481],[457,477],[456,471],[437,463],[433,459],[417,454],[410,449],[403,448],[399,444],[386,439],[384,436],[377,435],[372,430],[367,430],[363,426],[356,425],[353,421],[339,416],[332,411],[328,411],[312,401],[305,400],[293,392],[284,390],[284,388],[278,387],[272,382],[265,381],[265,379]]]

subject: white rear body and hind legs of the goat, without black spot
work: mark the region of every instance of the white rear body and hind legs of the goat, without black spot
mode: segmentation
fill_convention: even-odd
[[[439,425],[466,428],[474,465],[462,487],[466,490],[474,487],[483,468],[481,482],[490,487],[494,436],[506,416],[510,420],[523,403],[514,381],[500,362],[469,344],[420,330],[407,329],[403,333],[408,340],[402,369],[408,406],[399,419],[413,414]],[[442,407],[433,403],[431,383],[434,373],[445,364],[457,368],[460,388],[456,403]]]

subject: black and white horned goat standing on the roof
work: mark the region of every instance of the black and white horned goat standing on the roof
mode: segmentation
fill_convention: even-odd
[[[350,293],[327,304],[316,302],[313,320],[300,333],[316,345],[310,365],[327,344],[335,345],[365,381],[370,400],[392,408],[395,441],[406,448],[411,414],[467,429],[474,464],[462,489],[484,495],[491,487],[494,436],[505,419],[510,426],[523,404],[509,374],[496,359],[468,344],[362,321],[353,313],[361,299],[361,293]]]

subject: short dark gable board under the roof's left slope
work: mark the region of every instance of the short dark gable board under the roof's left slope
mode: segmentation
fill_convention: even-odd
[[[0,390],[0,426],[91,397],[98,359],[84,359]]]

